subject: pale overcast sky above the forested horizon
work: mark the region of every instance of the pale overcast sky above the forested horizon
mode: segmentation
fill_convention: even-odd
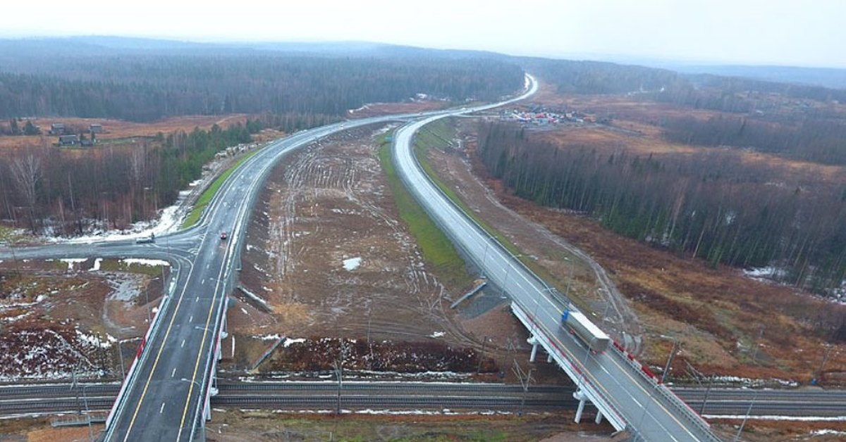
[[[844,0],[41,0],[3,4],[0,36],[378,41],[846,68],[843,19]]]

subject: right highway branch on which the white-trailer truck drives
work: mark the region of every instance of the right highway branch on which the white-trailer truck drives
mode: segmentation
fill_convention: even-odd
[[[532,89],[519,99],[531,95]],[[480,110],[479,108],[473,109]],[[648,440],[717,440],[706,423],[684,402],[642,375],[620,352],[609,347],[600,354],[588,351],[585,343],[560,325],[566,300],[534,276],[495,239],[477,226],[426,177],[412,153],[417,130],[443,116],[408,123],[394,137],[393,161],[404,185],[453,243],[487,276],[503,287],[514,301],[515,313],[522,312],[531,323],[530,332],[554,347],[563,368],[580,383],[591,400],[607,406],[606,415],[615,428],[629,428]],[[599,405],[599,404],[597,404]]]

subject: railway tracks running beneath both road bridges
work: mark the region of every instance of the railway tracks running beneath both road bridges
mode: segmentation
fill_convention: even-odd
[[[333,382],[232,382],[218,383],[213,407],[272,408],[279,410],[334,410],[338,385]],[[119,384],[0,385],[0,416],[106,411]],[[519,385],[398,382],[345,382],[340,395],[343,409],[520,409],[552,411],[572,409],[572,386],[533,385],[525,394]],[[700,390],[675,392],[695,411],[707,416],[843,417],[843,390]],[[702,401],[706,407],[702,407]],[[754,401],[754,403],[753,403]]]

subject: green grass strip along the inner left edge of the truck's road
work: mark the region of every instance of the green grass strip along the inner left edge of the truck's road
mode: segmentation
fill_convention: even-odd
[[[434,221],[426,214],[417,200],[400,181],[393,166],[391,143],[387,135],[382,139],[379,147],[379,162],[387,176],[388,187],[393,194],[394,204],[397,206],[399,217],[420,246],[423,259],[434,267],[437,277],[447,286],[460,288],[469,286],[473,276],[467,273],[467,266],[455,249],[453,242],[438,228]]]

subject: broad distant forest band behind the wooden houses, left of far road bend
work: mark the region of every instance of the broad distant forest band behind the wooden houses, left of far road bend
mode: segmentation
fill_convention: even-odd
[[[59,56],[0,68],[0,117],[343,115],[417,93],[494,100],[523,85],[513,63],[485,58],[329,58],[283,55]]]

